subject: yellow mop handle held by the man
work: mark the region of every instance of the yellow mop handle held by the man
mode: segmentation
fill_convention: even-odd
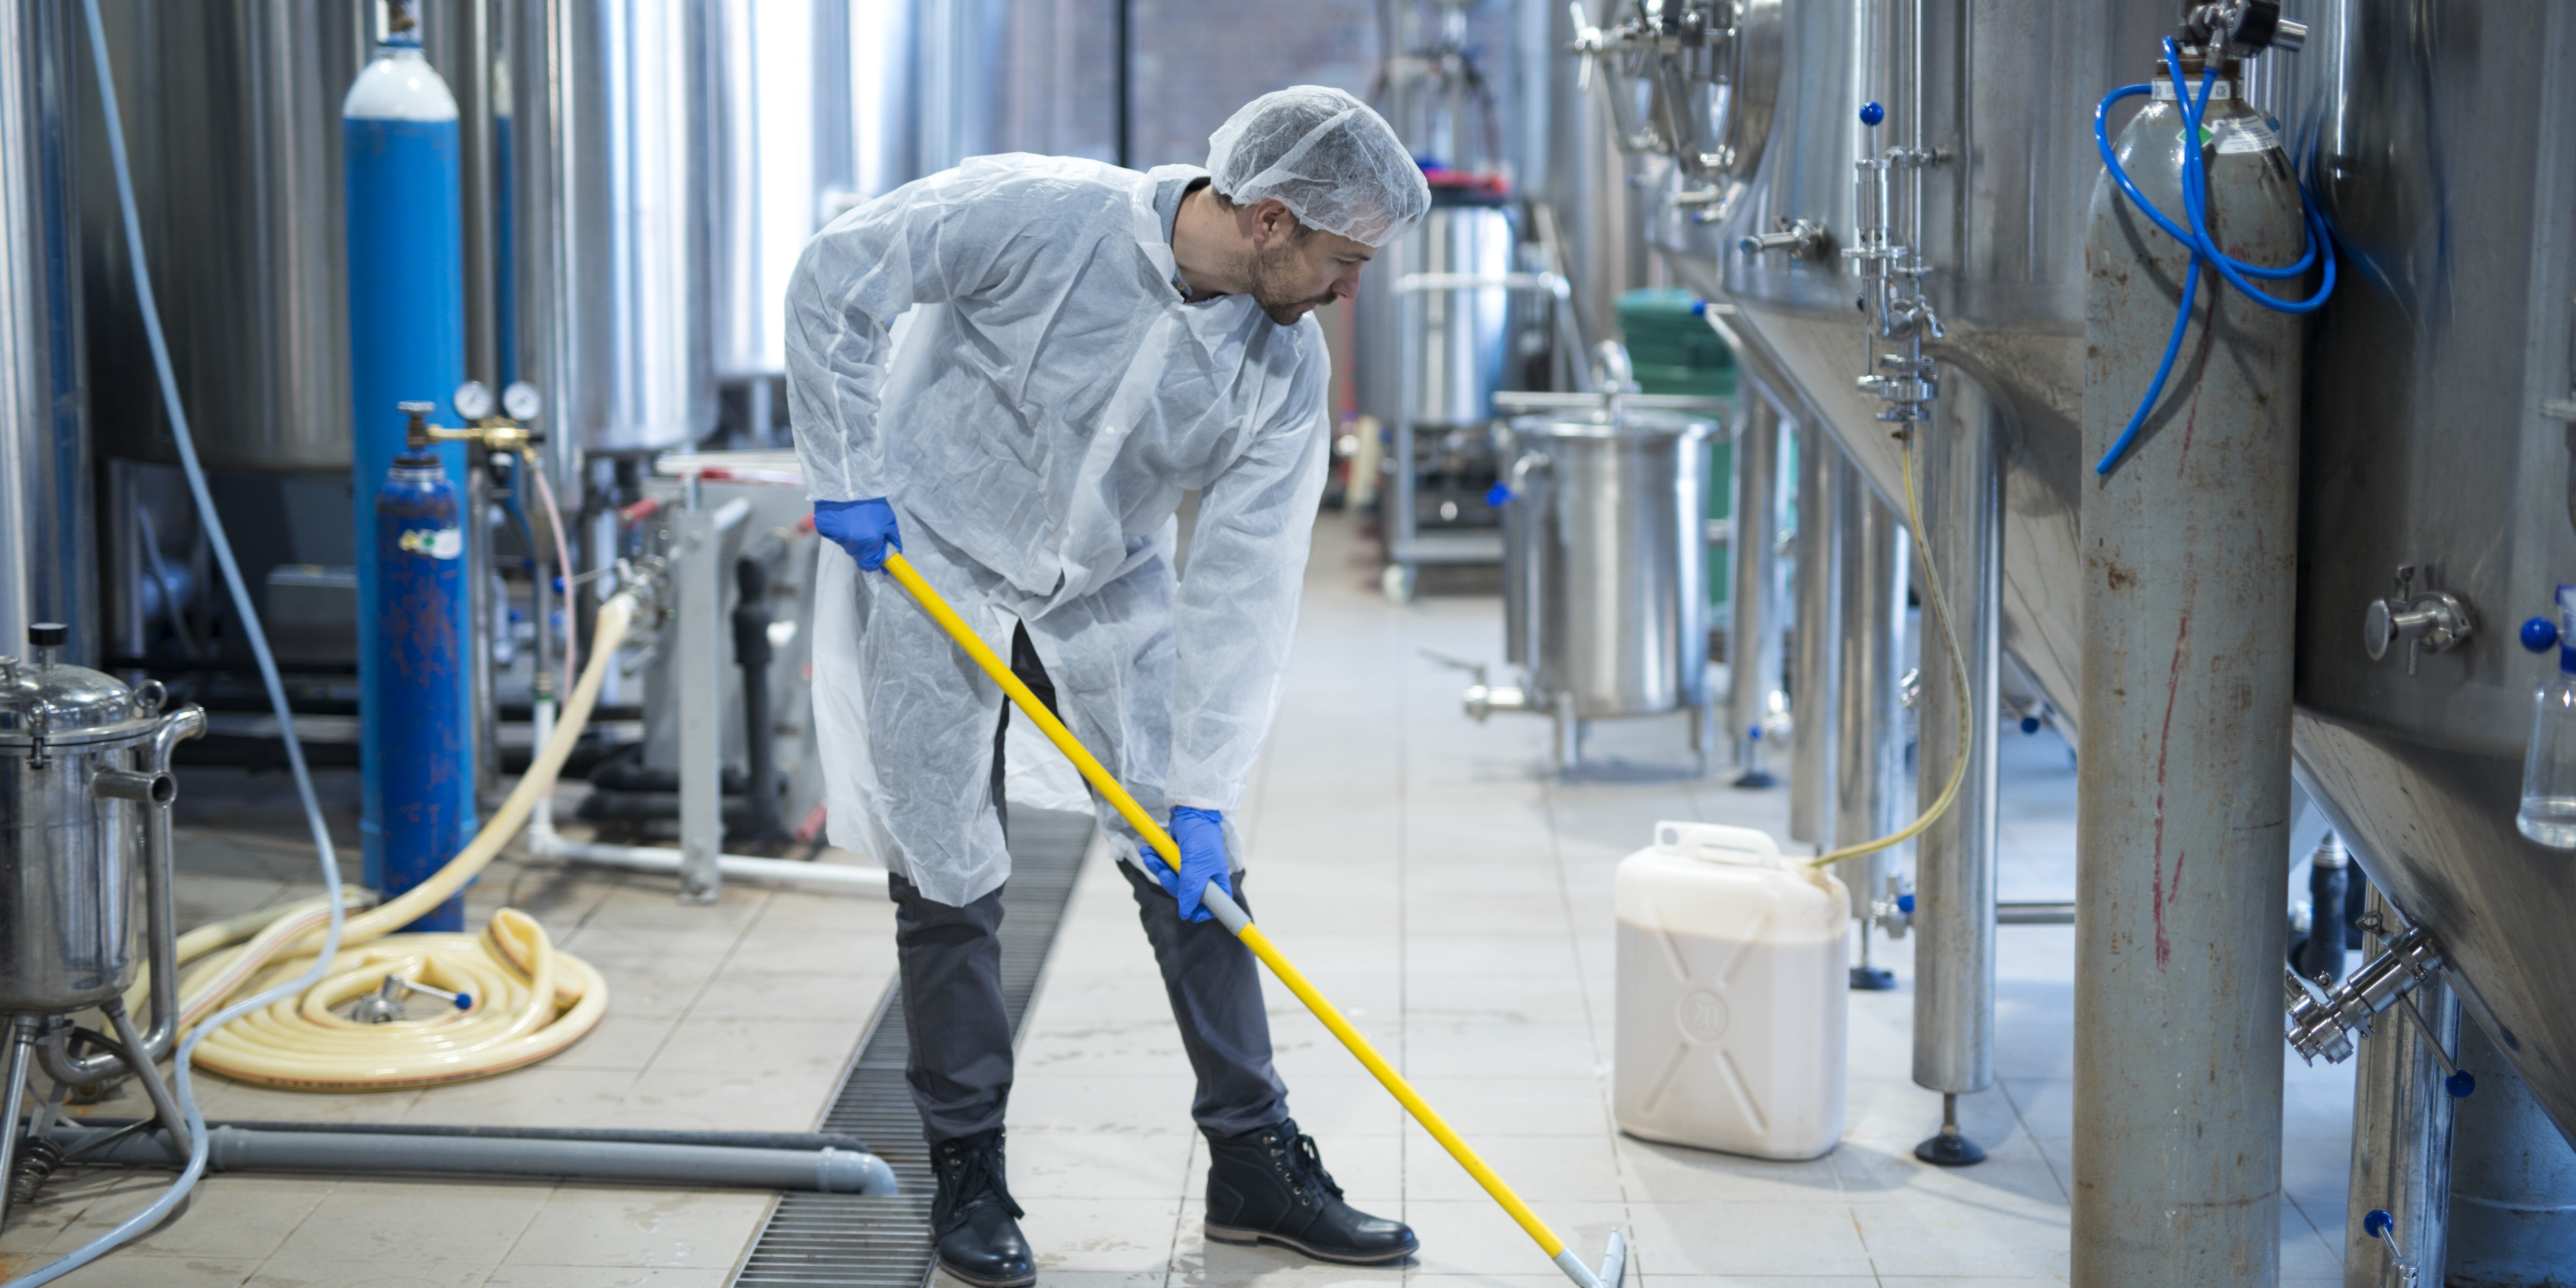
[[[1092,752],[1082,750],[1074,732],[1066,729],[1064,721],[1059,721],[1056,714],[1048,711],[1046,703],[1041,703],[1038,696],[1030,693],[1028,685],[1023,685],[989,647],[984,647],[984,639],[966,626],[966,618],[961,618],[956,608],[948,608],[948,600],[943,600],[940,592],[933,590],[902,554],[886,554],[886,572],[912,592],[922,611],[930,613],[930,618],[938,621],[940,629],[945,629],[948,636],[976,659],[979,667],[984,667],[984,675],[992,675],[992,683],[1002,685],[1002,693],[1010,693],[1010,701],[1020,703],[1020,711],[1028,714],[1028,719],[1038,721],[1046,742],[1054,742],[1056,750],[1064,752],[1077,770],[1082,770],[1082,778],[1087,778],[1092,788],[1097,788],[1100,796],[1118,809],[1118,817],[1126,819],[1139,837],[1151,842],[1154,853],[1162,855],[1172,871],[1180,871],[1180,845],[1172,842],[1172,835],[1164,832],[1162,824],[1157,824],[1154,817],[1146,814],[1115,778],[1110,778],[1110,770],[1092,760]],[[1211,904],[1216,899],[1226,899],[1224,891],[1216,891],[1213,886],[1216,884],[1211,881]],[[1226,902],[1231,904],[1231,899]],[[1476,1157],[1476,1151],[1461,1141],[1445,1121],[1440,1121],[1440,1113],[1422,1100],[1422,1092],[1414,1092],[1412,1082],[1404,1082],[1404,1074],[1399,1074],[1394,1064],[1386,1064],[1386,1056],[1381,1056],[1376,1046],[1368,1046],[1368,1038],[1363,1038],[1358,1028],[1350,1028],[1342,1010],[1324,999],[1324,994],[1316,992],[1303,974],[1298,974],[1296,963],[1291,963],[1278,945],[1260,933],[1260,927],[1247,920],[1234,938],[1244,940],[1244,945],[1252,948],[1252,956],[1262,958],[1262,966],[1270,966],[1270,974],[1280,976],[1280,984],[1288,984],[1288,992],[1293,992],[1298,1002],[1306,1002],[1306,1010],[1311,1010],[1316,1020],[1324,1020],[1324,1028],[1329,1028],[1334,1038],[1342,1038],[1342,1046],[1347,1046],[1352,1056],[1360,1056],[1360,1064],[1365,1064],[1368,1072],[1388,1092],[1394,1092],[1396,1103],[1404,1105],[1404,1113],[1412,1113],[1414,1121],[1422,1123],[1435,1141],[1440,1141],[1440,1149],[1448,1149],[1450,1157],[1458,1159],[1458,1167],[1466,1167],[1466,1175],[1476,1177],[1476,1185],[1484,1185],[1484,1193],[1494,1195],[1494,1203],[1502,1203],[1502,1211],[1512,1213],[1512,1221],[1520,1221],[1520,1229],[1525,1229],[1530,1239],[1538,1239],[1538,1247],[1548,1257],[1561,1257],[1566,1252],[1566,1242],[1558,1239],[1556,1231],[1551,1231],[1548,1224],[1540,1221],[1538,1213],[1533,1213],[1530,1206],[1522,1203],[1520,1195],[1515,1195],[1512,1188],[1504,1185],[1502,1177],[1497,1177],[1494,1170],[1486,1167],[1484,1159]]]

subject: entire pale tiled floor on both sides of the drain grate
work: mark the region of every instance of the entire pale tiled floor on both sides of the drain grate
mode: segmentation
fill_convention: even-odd
[[[1265,930],[1584,1255],[1628,1231],[1669,1288],[2063,1283],[2071,1139],[2071,933],[2007,927],[1996,1090],[1963,1097],[1991,1162],[1911,1157],[1940,1097],[1909,1082],[1909,943],[1899,989],[1852,997],[1850,1121],[1826,1159],[1770,1164],[1651,1146],[1607,1118],[1610,871],[1656,819],[1780,829],[1785,791],[1685,773],[1677,719],[1605,726],[1602,768],[1543,773],[1546,721],[1458,714],[1461,677],[1419,657],[1499,654],[1492,598],[1391,608],[1347,520],[1319,528],[1296,672],[1242,811]],[[204,773],[204,770],[198,770]],[[201,783],[196,778],[193,783]],[[2048,737],[2007,742],[2004,896],[2074,891],[2071,768]],[[281,778],[196,814],[185,922],[299,894]],[[345,822],[345,814],[343,814]],[[358,1097],[204,1079],[209,1115],[443,1123],[814,1126],[891,974],[876,899],[734,886],[683,909],[659,881],[497,866],[474,920],[533,912],[613,987],[611,1020],[505,1079]],[[1038,997],[1012,1100],[1012,1188],[1064,1288],[1422,1280],[1564,1283],[1463,1172],[1283,989],[1270,1015],[1298,1123],[1352,1200],[1422,1234],[1417,1265],[1327,1270],[1198,1234],[1206,1149],[1180,1038],[1126,884],[1084,871]],[[2290,1066],[2282,1280],[2339,1283],[2347,1069]],[[100,1113],[126,1113],[111,1105]],[[0,1273],[139,1208],[160,1175],[85,1175],[10,1216]],[[188,1211],[93,1270],[111,1285],[714,1288],[768,1195],[554,1185],[214,1177]],[[2321,1234],[2326,1231],[2326,1234]]]

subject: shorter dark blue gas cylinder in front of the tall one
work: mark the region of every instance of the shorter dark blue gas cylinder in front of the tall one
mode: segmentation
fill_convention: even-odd
[[[474,742],[466,734],[466,639],[456,605],[466,598],[466,544],[456,523],[456,484],[430,453],[397,456],[376,489],[376,616],[368,634],[379,667],[366,677],[366,719],[381,762],[381,884],[402,894],[443,868],[474,832]],[[464,930],[466,896],[453,894],[410,930]]]

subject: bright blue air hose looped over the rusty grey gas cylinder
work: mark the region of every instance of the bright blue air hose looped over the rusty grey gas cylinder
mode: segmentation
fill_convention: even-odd
[[[2112,183],[2117,183],[2120,191],[2128,193],[2128,198],[2141,211],[2146,211],[2146,216],[2154,219],[2159,229],[2164,229],[2172,240],[2192,247],[2192,263],[2182,278],[2182,304],[2174,309],[2174,332],[2164,340],[2164,361],[2156,363],[2156,379],[2148,381],[2146,397],[2138,399],[2138,410],[2128,417],[2128,428],[2120,430],[2120,438],[2110,446],[2110,451],[2102,453],[2102,461],[2094,464],[2094,474],[2110,474],[2120,464],[2120,459],[2128,456],[2128,448],[2138,440],[2138,430],[2146,425],[2146,415],[2164,397],[2164,381],[2172,379],[2174,374],[2174,355],[2182,353],[2182,332],[2192,322],[2192,301],[2200,296],[2202,263],[2218,268],[2218,276],[2226,278],[2228,286],[2233,286],[2246,299],[2272,312],[2308,314],[2321,309],[2326,299],[2334,296],[2334,234],[2326,232],[2326,216],[2316,209],[2316,198],[2308,196],[2306,183],[2298,188],[2298,201],[2308,222],[2308,247],[2298,255],[2298,263],[2282,268],[2267,268],[2257,263],[2244,263],[2228,255],[2226,250],[2218,250],[2218,240],[2210,237],[2208,198],[2202,196],[2208,173],[2202,167],[2197,144],[2200,113],[2210,103],[2210,85],[2218,80],[2218,72],[2213,67],[2200,70],[2200,95],[2195,98],[2182,85],[2182,49],[2174,46],[2172,36],[2164,39],[2164,67],[2166,77],[2172,77],[2174,82],[2174,100],[2182,106],[2182,137],[2184,137],[2182,216],[2190,222],[2190,227],[2166,219],[2164,211],[2159,211],[2156,204],[2148,201],[2136,183],[2130,183],[2128,170],[2120,167],[2120,155],[2112,152],[2110,144],[2110,106],[2123,98],[2138,98],[2154,93],[2154,85],[2120,85],[2117,90],[2107,93],[2102,103],[2094,108],[2094,147],[2102,152],[2102,165],[2105,170],[2110,170]],[[2277,299],[2246,281],[2246,278],[2259,278],[2259,281],[2298,278],[2308,273],[2308,268],[2313,268],[2318,260],[2324,260],[2326,265],[2326,278],[2308,299]]]

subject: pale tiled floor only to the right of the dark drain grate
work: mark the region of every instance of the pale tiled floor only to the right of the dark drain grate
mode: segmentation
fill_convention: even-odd
[[[1772,1164],[1618,1136],[1610,871],[1656,819],[1783,829],[1785,791],[1687,775],[1680,719],[1605,726],[1600,770],[1551,781],[1546,721],[1468,721],[1458,672],[1419,657],[1497,657],[1494,600],[1391,608],[1368,554],[1340,520],[1319,531],[1296,672],[1247,801],[1249,899],[1270,938],[1577,1249],[1595,1255],[1610,1226],[1625,1229],[1646,1283],[2063,1283],[2074,933],[2002,933],[1999,1087],[1960,1105],[1991,1154],[1981,1167],[1940,1172],[1911,1154],[1940,1126],[1940,1097],[1909,1077],[1911,943],[1878,953],[1896,992],[1852,997],[1850,1126],[1826,1159]],[[2071,899],[2063,744],[2014,737],[2007,775],[2004,896]],[[1399,1278],[1198,1236],[1206,1151],[1180,1038],[1139,987],[1151,961],[1115,873],[1084,873],[1028,1036],[1010,1131],[1041,1278]],[[1334,1177],[1422,1234],[1401,1278],[1561,1283],[1285,989],[1273,989],[1270,1018],[1291,1108]],[[2352,1079],[2293,1061],[2287,1095],[2282,1283],[2339,1283]]]

